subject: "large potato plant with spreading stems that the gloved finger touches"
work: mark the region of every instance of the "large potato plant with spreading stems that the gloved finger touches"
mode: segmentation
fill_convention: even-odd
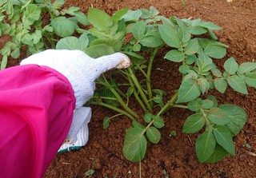
[[[221,27],[201,19],[166,18],[159,15],[153,6],[150,10],[119,10],[113,16],[90,8],[88,19],[93,27],[85,33],[94,38],[90,37],[93,40],[88,42],[89,47],[85,49],[87,53],[97,46],[97,54],[95,51],[91,53],[94,57],[110,51],[122,51],[133,61],[130,68],[118,71],[126,78],[126,82],[117,83],[114,80],[116,73],[112,73],[110,80],[101,77],[98,84],[102,88],[90,101],[90,104],[114,109],[118,112],[114,117],[121,114],[130,117],[132,126],[126,129],[123,146],[126,159],[142,160],[148,140],[158,144],[161,139],[159,130],[165,125],[162,115],[173,108],[194,112],[186,119],[182,132],[198,133],[203,130],[195,143],[200,162],[212,163],[229,154],[235,155],[232,137],[245,125],[246,112],[236,105],[219,105],[215,97],[207,96],[207,93],[210,89],[224,93],[227,85],[230,85],[235,91],[247,94],[246,85],[256,88],[256,63],[238,65],[230,57],[224,64],[224,72],[214,65],[213,59],[225,57],[226,48],[229,47],[218,42],[214,35],[213,30],[221,30]],[[178,70],[182,73],[182,83],[174,96],[166,96],[165,91],[152,89],[150,83],[156,53],[166,45],[170,46],[170,51],[165,55],[166,60],[181,63]],[[140,54],[143,52],[150,53],[150,57],[142,57]],[[138,80],[135,71],[140,72],[144,79]],[[118,88],[120,85],[128,86],[126,92]],[[135,110],[130,109],[129,98],[132,96],[143,109],[144,116],[138,116]],[[164,101],[163,97],[169,100]],[[143,117],[142,123],[138,122],[140,117]],[[104,119],[104,128],[110,125],[112,118]]]

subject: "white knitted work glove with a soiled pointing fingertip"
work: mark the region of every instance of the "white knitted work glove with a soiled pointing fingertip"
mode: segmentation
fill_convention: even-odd
[[[76,105],[70,131],[66,143],[59,152],[79,148],[88,141],[88,126],[91,111],[82,107],[94,94],[95,79],[106,70],[126,68],[130,59],[123,53],[113,53],[107,56],[92,58],[80,50],[48,49],[27,57],[21,65],[46,65],[62,73],[72,85]]]

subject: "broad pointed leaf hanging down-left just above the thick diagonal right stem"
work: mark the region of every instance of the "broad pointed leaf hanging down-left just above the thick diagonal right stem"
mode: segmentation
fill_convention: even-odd
[[[190,78],[182,81],[178,91],[177,103],[193,101],[200,96],[200,86],[197,80]]]

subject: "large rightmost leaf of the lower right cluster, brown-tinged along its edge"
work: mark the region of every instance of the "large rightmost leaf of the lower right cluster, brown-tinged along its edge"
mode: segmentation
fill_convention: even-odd
[[[225,112],[226,117],[230,120],[226,126],[236,136],[246,124],[246,112],[237,105],[219,105],[218,107]]]

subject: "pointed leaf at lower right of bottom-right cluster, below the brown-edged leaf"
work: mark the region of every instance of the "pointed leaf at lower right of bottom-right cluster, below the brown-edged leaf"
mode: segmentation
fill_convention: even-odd
[[[230,129],[224,125],[216,125],[214,126],[214,136],[218,144],[225,148],[231,155],[235,155],[234,142],[232,140]]]

